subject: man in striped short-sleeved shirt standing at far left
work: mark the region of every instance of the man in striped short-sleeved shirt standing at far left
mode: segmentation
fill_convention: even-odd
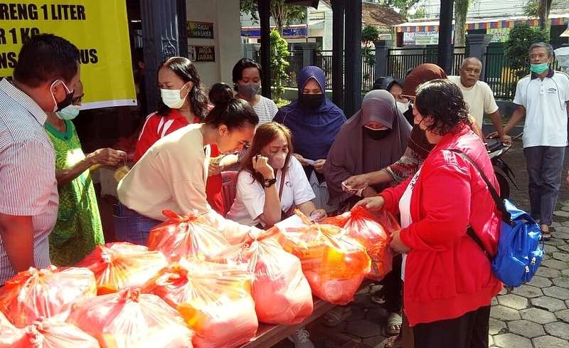
[[[0,80],[0,286],[50,265],[48,236],[58,216],[55,153],[46,112],[71,104],[79,50],[52,34],[23,44],[14,80]]]

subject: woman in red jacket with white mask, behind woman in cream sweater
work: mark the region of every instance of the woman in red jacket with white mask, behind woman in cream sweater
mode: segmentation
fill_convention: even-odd
[[[158,85],[161,101],[158,111],[148,115],[144,122],[134,151],[135,162],[158,139],[186,125],[203,122],[208,113],[208,97],[201,87],[196,67],[188,58],[172,57],[162,63],[158,68]],[[219,155],[217,147],[212,146],[206,193],[210,206],[225,215],[221,191],[223,165],[216,159]],[[230,164],[233,163],[224,165]]]

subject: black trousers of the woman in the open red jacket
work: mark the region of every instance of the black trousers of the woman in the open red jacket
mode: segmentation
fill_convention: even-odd
[[[413,327],[415,348],[488,348],[490,306]]]

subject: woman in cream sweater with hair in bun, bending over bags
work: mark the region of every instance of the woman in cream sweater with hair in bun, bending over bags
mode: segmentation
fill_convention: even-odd
[[[164,209],[180,215],[204,214],[231,243],[251,231],[227,221],[206,199],[210,145],[221,153],[247,147],[259,118],[245,100],[228,97],[208,113],[205,123],[187,125],[155,142],[119,182],[115,231],[119,241],[146,244]]]

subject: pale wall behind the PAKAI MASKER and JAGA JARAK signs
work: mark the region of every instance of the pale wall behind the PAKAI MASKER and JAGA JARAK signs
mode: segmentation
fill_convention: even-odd
[[[213,39],[188,38],[190,46],[215,46],[215,62],[195,62],[204,87],[233,85],[231,70],[243,58],[239,0],[186,0],[188,21],[213,23]]]

